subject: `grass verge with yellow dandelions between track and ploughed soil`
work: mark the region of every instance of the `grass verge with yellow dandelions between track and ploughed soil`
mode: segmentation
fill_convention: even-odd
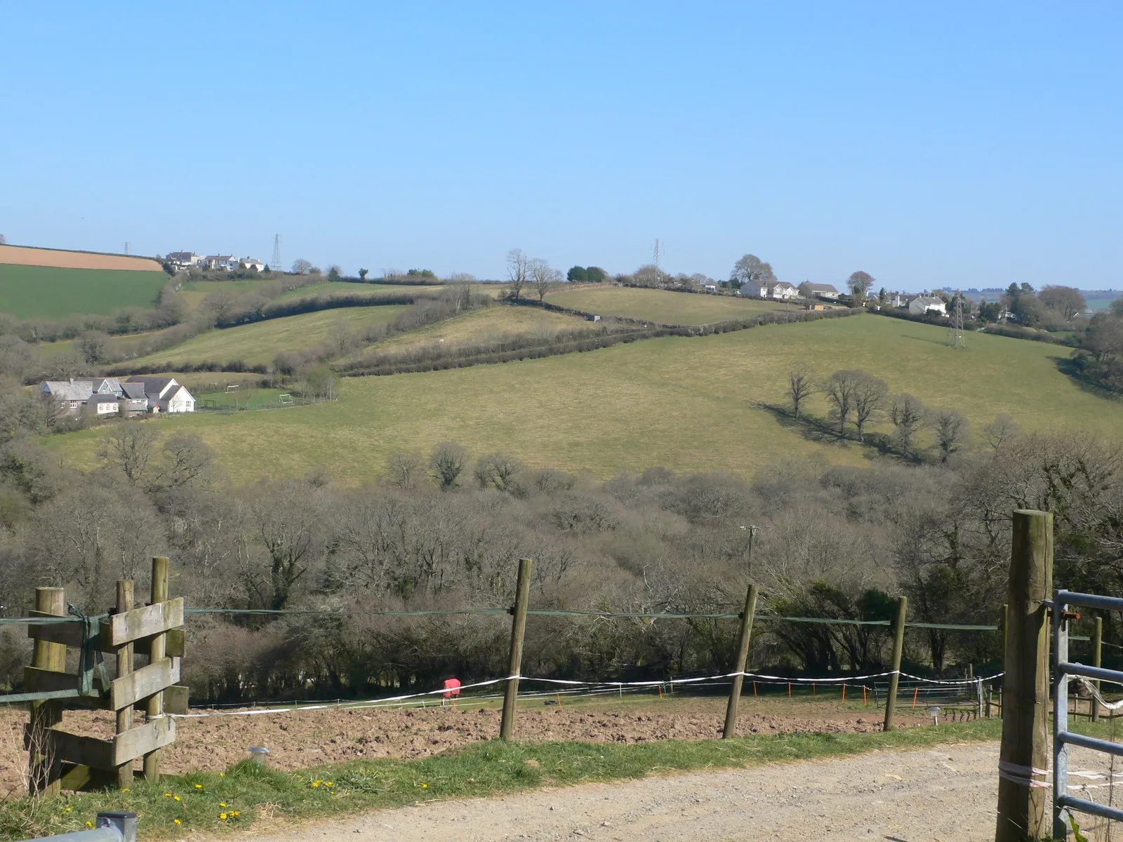
[[[226,772],[193,772],[130,790],[66,794],[0,802],[0,838],[27,839],[82,830],[98,811],[128,809],[144,839],[188,830],[232,831],[258,821],[302,818],[396,807],[426,800],[477,798],[584,781],[641,778],[651,772],[761,766],[996,740],[1002,721],[910,727],[889,733],[794,733],[736,740],[643,743],[491,741],[417,760],[357,760],[283,772],[243,761]]]

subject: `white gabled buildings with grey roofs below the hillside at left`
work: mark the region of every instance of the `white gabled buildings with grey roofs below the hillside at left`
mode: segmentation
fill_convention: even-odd
[[[60,414],[136,418],[161,412],[194,412],[195,399],[175,377],[91,377],[44,381],[39,396]]]

